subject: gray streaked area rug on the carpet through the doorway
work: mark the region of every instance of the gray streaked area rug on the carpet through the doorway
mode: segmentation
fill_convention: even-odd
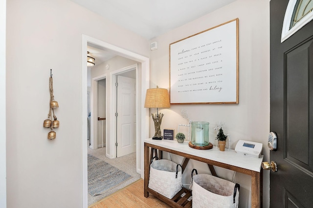
[[[131,178],[126,172],[88,154],[88,192],[91,196],[102,194]]]

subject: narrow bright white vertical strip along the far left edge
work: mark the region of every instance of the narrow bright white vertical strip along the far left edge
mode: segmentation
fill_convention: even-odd
[[[5,26],[6,0],[0,0],[0,207],[6,208]]]

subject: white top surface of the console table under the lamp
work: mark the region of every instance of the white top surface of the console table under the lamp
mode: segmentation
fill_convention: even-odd
[[[248,155],[239,154],[234,150],[228,151],[228,149],[225,149],[225,151],[220,151],[218,148],[216,148],[216,146],[213,146],[213,149],[211,150],[197,150],[189,147],[188,141],[185,141],[184,143],[178,143],[176,140],[155,140],[149,138],[145,139],[144,142],[257,172],[260,172],[263,161],[263,155],[261,155],[259,158],[251,157]]]

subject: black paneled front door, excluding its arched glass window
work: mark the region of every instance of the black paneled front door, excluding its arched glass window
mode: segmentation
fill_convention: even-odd
[[[270,207],[313,208],[313,21],[281,43],[287,5],[270,0]]]

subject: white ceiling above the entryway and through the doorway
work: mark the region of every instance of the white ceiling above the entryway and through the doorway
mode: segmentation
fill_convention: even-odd
[[[71,0],[148,40],[198,19],[235,0]],[[88,47],[95,63],[113,55]]]

